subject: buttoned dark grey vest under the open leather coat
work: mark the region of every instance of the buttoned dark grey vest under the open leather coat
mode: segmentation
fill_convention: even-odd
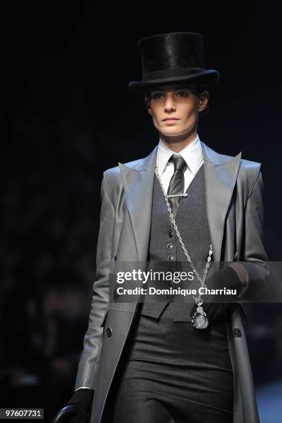
[[[183,197],[176,214],[176,225],[180,232],[183,243],[191,260],[196,266],[198,273],[203,277],[203,270],[207,256],[209,255],[209,225],[207,222],[207,209],[205,203],[205,171],[204,165],[200,167],[196,176],[187,188],[187,197]],[[191,272],[191,266],[187,261],[178,237],[173,229],[169,218],[167,203],[160,187],[158,178],[153,183],[153,205],[151,218],[151,237],[149,247],[149,268],[153,269],[153,263],[163,263],[164,271]],[[181,262],[184,262],[183,265]],[[196,264],[202,262],[200,267]],[[157,267],[157,270],[160,267]],[[180,282],[173,288],[196,288],[200,283],[198,280]],[[160,284],[158,285],[160,288]],[[169,288],[169,282],[164,283],[164,288]],[[155,297],[156,298],[156,297]],[[191,301],[191,297],[190,300]],[[194,301],[194,300],[193,300]],[[162,297],[159,301],[149,301],[149,296],[144,297],[144,304],[141,307],[141,314],[158,319],[164,308],[171,308],[173,321],[191,321],[191,308],[194,303],[187,302],[182,295]]]

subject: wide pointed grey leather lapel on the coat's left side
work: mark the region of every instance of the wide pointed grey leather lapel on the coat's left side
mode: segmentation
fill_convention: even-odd
[[[119,163],[126,205],[138,252],[139,261],[147,261],[151,231],[153,177],[158,146],[144,159],[127,165]]]

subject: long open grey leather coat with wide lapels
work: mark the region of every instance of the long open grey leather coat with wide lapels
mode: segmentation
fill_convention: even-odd
[[[203,142],[206,204],[215,261],[243,261],[250,280],[265,281],[261,164],[224,156]],[[157,147],[146,158],[107,169],[97,243],[97,273],[75,388],[95,390],[91,423],[99,423],[137,303],[109,303],[109,270],[116,261],[147,261]],[[243,309],[227,320],[234,370],[234,423],[258,423]],[[229,323],[228,323],[229,322]]]

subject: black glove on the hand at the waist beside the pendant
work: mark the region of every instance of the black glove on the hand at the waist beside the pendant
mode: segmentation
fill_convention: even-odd
[[[223,312],[225,312],[225,309],[229,306],[229,303],[238,301],[239,294],[243,289],[243,283],[239,278],[236,270],[232,269],[230,266],[224,267],[222,270],[214,272],[214,274],[207,278],[205,285],[209,290],[226,288],[228,290],[236,289],[237,291],[236,295],[207,294],[201,296],[203,299],[202,307],[204,312],[207,313],[207,318],[209,321],[222,316]],[[192,308],[191,317],[193,317],[197,307],[198,306],[195,304]]]

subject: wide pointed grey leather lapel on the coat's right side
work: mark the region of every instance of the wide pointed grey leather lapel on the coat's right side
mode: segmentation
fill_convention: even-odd
[[[224,156],[201,142],[205,166],[207,220],[214,261],[220,261],[227,209],[232,198],[240,166],[241,153]]]

